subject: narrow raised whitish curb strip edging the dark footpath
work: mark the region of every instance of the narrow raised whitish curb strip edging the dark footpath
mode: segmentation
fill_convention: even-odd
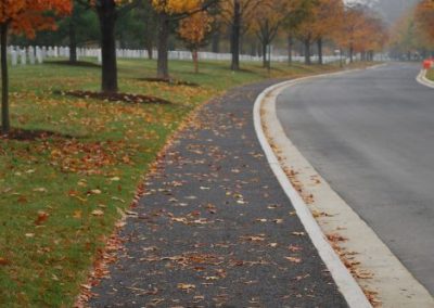
[[[356,69],[358,70],[358,69]],[[355,70],[348,70],[355,72]],[[261,105],[264,101],[269,97],[272,92],[283,89],[288,86],[295,85],[296,82],[317,78],[317,77],[324,77],[324,76],[332,76],[332,75],[342,75],[348,72],[340,72],[334,74],[323,74],[314,77],[306,77],[296,80],[285,81],[278,85],[275,85],[268,89],[266,89],[256,99],[254,105],[254,125],[256,134],[259,139],[260,145],[267,156],[268,163],[275,172],[277,179],[279,180],[283,191],[291,200],[292,205],[294,206],[297,216],[299,217],[302,223],[304,224],[307,233],[309,234],[315,247],[318,249],[320,257],[324,261],[326,266],[330,270],[331,275],[333,277],[337,287],[340,288],[341,293],[345,297],[349,307],[353,308],[366,308],[372,307],[367,299],[366,295],[363,294],[361,287],[358,285],[356,280],[349,273],[345,265],[341,261],[337,254],[334,252],[330,243],[328,242],[326,235],[322,233],[321,228],[317,223],[316,219],[314,218],[310,209],[307,207],[303,198],[298,195],[297,191],[293,188],[288,176],[283,171],[278,157],[276,156],[273,150],[271,149],[270,144],[268,143],[267,137],[265,134],[263,123],[261,123]],[[276,99],[276,98],[275,98]]]

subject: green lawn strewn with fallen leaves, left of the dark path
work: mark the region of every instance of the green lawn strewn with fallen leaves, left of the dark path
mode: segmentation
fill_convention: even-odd
[[[99,67],[46,63],[11,67],[12,126],[58,134],[0,139],[0,306],[71,307],[116,221],[131,204],[156,154],[187,116],[228,88],[334,66],[259,64],[232,73],[227,63],[171,62],[175,78],[200,87],[142,81],[153,61],[119,61],[123,92],[170,105],[73,99],[53,90],[98,90]]]

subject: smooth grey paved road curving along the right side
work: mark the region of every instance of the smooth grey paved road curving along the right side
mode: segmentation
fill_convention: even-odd
[[[278,101],[286,134],[434,294],[434,90],[419,67],[324,77]]]

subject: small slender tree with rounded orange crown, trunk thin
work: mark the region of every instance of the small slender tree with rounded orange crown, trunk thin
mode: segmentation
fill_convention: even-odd
[[[213,17],[207,12],[195,13],[179,23],[179,36],[191,51],[194,62],[194,73],[199,73],[199,49],[205,44],[206,37],[213,27]]]

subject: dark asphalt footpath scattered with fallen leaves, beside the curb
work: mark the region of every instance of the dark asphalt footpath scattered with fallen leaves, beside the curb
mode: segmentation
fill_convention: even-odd
[[[92,307],[346,307],[257,141],[270,85],[232,90],[179,134]]]

